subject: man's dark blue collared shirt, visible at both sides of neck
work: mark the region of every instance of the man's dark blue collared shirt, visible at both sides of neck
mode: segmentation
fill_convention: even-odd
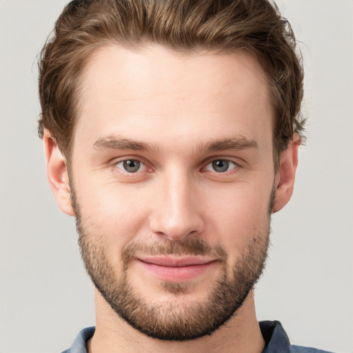
[[[291,345],[285,330],[279,321],[261,321],[261,334],[265,340],[263,353],[329,353],[315,348]],[[93,336],[94,327],[83,329],[72,343],[71,348],[63,353],[87,353],[87,341]]]

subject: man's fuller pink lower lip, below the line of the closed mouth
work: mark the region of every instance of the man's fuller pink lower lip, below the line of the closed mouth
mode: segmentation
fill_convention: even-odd
[[[214,264],[214,261],[199,265],[182,266],[179,268],[155,265],[154,263],[148,263],[141,260],[139,263],[141,263],[145,270],[148,270],[148,272],[158,279],[170,282],[185,282],[195,279],[203,274],[203,272],[208,270]]]

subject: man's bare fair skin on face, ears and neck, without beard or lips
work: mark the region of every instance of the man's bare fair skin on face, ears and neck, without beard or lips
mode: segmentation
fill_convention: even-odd
[[[253,57],[245,52],[182,55],[158,46],[138,52],[108,46],[85,68],[81,90],[70,182],[83,221],[101,234],[97,242],[104,243],[117,278],[123,273],[117,254],[130,243],[199,237],[225,248],[230,269],[254,236],[268,236],[264,229],[270,195],[275,190],[272,212],[290,200],[300,138],[295,135],[281,153],[275,174],[274,117],[265,74]],[[148,148],[135,150],[122,139]],[[229,140],[232,144],[226,145]],[[48,130],[43,141],[50,187],[59,208],[73,216],[65,159]],[[215,141],[223,144],[217,150],[207,148]],[[122,161],[127,159],[141,161],[141,170],[126,172]],[[230,161],[229,170],[212,168],[219,159]],[[190,303],[205,301],[220,271],[217,263],[208,266],[186,281],[188,290],[178,295],[165,290],[161,279],[138,260],[130,263],[128,278],[146,301],[172,301],[175,308],[188,310]],[[97,326],[90,352],[263,350],[253,292],[212,335],[184,342],[141,334],[97,290],[95,297]]]

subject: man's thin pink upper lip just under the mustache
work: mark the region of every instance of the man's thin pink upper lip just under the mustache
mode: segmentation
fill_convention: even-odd
[[[153,265],[181,268],[191,265],[205,265],[214,259],[209,259],[203,256],[139,256],[139,260]]]

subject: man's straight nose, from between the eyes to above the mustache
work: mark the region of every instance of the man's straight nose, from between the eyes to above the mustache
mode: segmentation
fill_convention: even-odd
[[[186,173],[171,174],[161,178],[154,194],[150,229],[159,236],[182,241],[204,230],[201,190]]]

